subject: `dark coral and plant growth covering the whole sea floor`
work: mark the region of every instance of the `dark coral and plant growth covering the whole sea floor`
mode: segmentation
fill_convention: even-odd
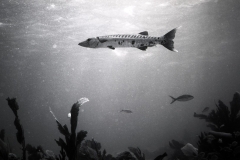
[[[67,125],[62,125],[53,114],[59,132],[63,138],[55,139],[61,147],[60,153],[55,155],[50,150],[44,152],[41,146],[34,147],[25,145],[23,126],[18,117],[19,106],[16,98],[7,98],[8,105],[15,115],[14,125],[17,129],[17,141],[22,146],[22,160],[145,160],[145,154],[138,147],[128,147],[129,151],[124,151],[113,157],[107,154],[106,150],[101,150],[101,143],[91,140],[84,140],[87,131],[76,132],[78,123],[79,108],[88,101],[82,98],[73,104],[69,113],[71,129]],[[222,101],[215,103],[216,110],[212,110],[208,115],[194,113],[194,117],[208,122],[209,132],[201,132],[198,140],[198,149],[190,143],[182,144],[176,140],[169,142],[172,153],[165,152],[157,156],[154,160],[239,160],[240,159],[240,94],[237,92],[230,102],[230,107]],[[27,154],[26,154],[27,152]],[[0,160],[17,160],[17,156],[11,153],[8,143],[5,142],[5,130],[0,131]]]

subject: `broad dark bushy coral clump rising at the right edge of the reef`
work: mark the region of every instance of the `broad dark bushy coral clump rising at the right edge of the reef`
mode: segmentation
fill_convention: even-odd
[[[221,100],[215,103],[216,110],[208,115],[194,113],[194,117],[204,119],[211,128],[202,132],[198,140],[198,154],[204,158],[218,160],[240,159],[240,94],[236,92],[230,107]]]

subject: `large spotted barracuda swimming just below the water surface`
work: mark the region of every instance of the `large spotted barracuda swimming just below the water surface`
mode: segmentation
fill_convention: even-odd
[[[179,27],[178,27],[179,28]],[[174,49],[173,39],[178,28],[171,30],[161,37],[148,36],[148,32],[144,31],[138,35],[130,34],[117,34],[108,36],[99,36],[96,38],[88,38],[87,40],[80,42],[78,45],[87,48],[110,48],[115,49],[119,47],[135,47],[140,50],[146,51],[148,47],[161,44],[167,49],[178,52]]]

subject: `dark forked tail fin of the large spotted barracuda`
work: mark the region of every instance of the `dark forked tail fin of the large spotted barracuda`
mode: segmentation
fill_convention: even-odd
[[[165,34],[163,36],[164,40],[161,43],[164,47],[166,47],[167,49],[174,51],[174,52],[178,52],[178,51],[176,49],[174,49],[173,39],[175,38],[175,33],[176,33],[177,29],[180,27],[174,28],[173,30],[171,30],[170,32]]]

